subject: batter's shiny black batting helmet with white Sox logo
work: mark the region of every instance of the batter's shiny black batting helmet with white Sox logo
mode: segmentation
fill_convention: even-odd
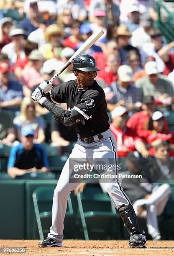
[[[73,62],[73,72],[74,70],[82,71],[97,71],[100,70],[96,67],[95,59],[88,54],[77,55]]]

